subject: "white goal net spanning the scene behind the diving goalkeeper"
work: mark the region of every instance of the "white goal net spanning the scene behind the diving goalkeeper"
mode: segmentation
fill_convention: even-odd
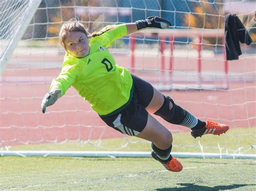
[[[159,16],[170,20],[170,29],[118,39],[109,48],[116,63],[199,119],[230,126],[220,137],[194,139],[190,129],[156,116],[173,133],[173,152],[255,157],[255,6],[256,1],[243,0],[0,0],[0,153],[145,151],[148,156],[148,142],[107,127],[75,89],[46,114],[41,101],[62,66],[58,33],[64,22],[79,17],[93,32]],[[239,60],[225,57],[228,13],[237,14],[253,39],[250,46],[241,44]]]

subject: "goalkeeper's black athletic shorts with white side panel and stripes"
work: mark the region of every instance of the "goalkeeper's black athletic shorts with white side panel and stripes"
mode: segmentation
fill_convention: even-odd
[[[100,116],[111,128],[130,136],[138,135],[147,124],[147,105],[153,98],[153,87],[150,83],[132,75],[133,95],[126,108],[114,115]]]

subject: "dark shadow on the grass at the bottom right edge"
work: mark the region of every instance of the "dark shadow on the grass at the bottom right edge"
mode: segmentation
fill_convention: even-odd
[[[183,186],[181,188],[158,188],[156,190],[231,190],[235,188],[240,188],[244,186],[255,186],[255,185],[228,185],[228,186],[200,186],[194,183],[179,183],[178,185]]]

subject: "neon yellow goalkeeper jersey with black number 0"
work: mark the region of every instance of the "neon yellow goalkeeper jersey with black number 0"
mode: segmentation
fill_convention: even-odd
[[[99,115],[114,114],[131,101],[133,82],[129,70],[116,65],[106,49],[112,41],[127,34],[126,26],[113,29],[89,39],[90,52],[84,58],[65,54],[62,71],[51,83],[60,89],[61,96],[73,86]]]

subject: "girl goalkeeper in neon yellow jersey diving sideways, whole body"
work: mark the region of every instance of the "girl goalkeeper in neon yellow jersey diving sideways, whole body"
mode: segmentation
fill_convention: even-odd
[[[208,133],[220,135],[228,130],[228,126],[200,121],[169,96],[116,65],[106,49],[114,40],[137,30],[147,27],[166,29],[169,26],[171,23],[164,18],[148,17],[135,23],[107,26],[90,34],[76,18],[66,22],[59,33],[60,43],[66,50],[62,71],[43,98],[43,113],[73,86],[107,125],[129,136],[149,140],[154,159],[169,171],[181,171],[183,166],[170,154],[171,132],[151,114],[191,128],[194,138]]]

